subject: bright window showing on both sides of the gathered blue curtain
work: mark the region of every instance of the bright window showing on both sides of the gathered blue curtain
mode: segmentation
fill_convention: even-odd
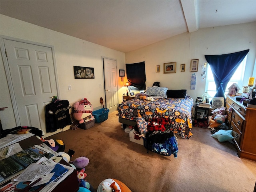
[[[228,82],[228,85],[225,90],[225,95],[228,94],[228,88],[233,84],[236,83],[242,89],[242,81],[244,79],[244,70],[245,70],[245,65],[246,65],[246,59],[247,56],[245,56],[244,60],[240,63],[238,68],[236,69],[236,72]],[[206,73],[206,85],[205,85],[205,91],[208,92],[209,98],[213,98],[214,95],[216,94],[216,84],[214,82],[214,78],[212,75],[212,70],[209,64],[207,64],[207,73]],[[210,99],[211,100],[211,99]]]

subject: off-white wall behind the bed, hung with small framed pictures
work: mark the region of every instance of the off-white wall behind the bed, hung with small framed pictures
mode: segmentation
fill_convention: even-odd
[[[256,77],[256,22],[186,32],[126,53],[126,63],[145,61],[146,86],[152,86],[158,81],[160,86],[169,89],[187,89],[195,100],[205,91],[205,80],[201,80],[202,65],[206,62],[204,55],[227,54],[246,49],[250,49],[244,74],[243,85],[246,86],[249,77]],[[199,59],[196,90],[190,90],[190,77],[194,73],[190,72],[191,59]],[[177,63],[176,73],[163,73],[163,64],[166,62]],[[186,64],[185,72],[180,72],[180,64]],[[156,72],[156,65],[160,65],[160,72]]]

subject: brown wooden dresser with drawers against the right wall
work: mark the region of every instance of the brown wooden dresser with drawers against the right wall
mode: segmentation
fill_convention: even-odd
[[[228,109],[232,107],[232,111]],[[256,161],[256,108],[247,108],[227,95],[227,124],[233,130],[238,156]]]

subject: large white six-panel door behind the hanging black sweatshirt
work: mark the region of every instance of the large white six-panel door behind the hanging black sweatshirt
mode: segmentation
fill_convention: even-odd
[[[58,95],[52,48],[6,39],[4,46],[20,126],[46,133],[44,106]]]

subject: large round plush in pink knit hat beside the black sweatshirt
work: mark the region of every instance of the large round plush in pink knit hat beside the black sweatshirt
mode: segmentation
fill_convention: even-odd
[[[80,124],[84,122],[84,118],[92,116],[92,104],[86,98],[76,102],[73,107],[73,118],[79,121]]]

